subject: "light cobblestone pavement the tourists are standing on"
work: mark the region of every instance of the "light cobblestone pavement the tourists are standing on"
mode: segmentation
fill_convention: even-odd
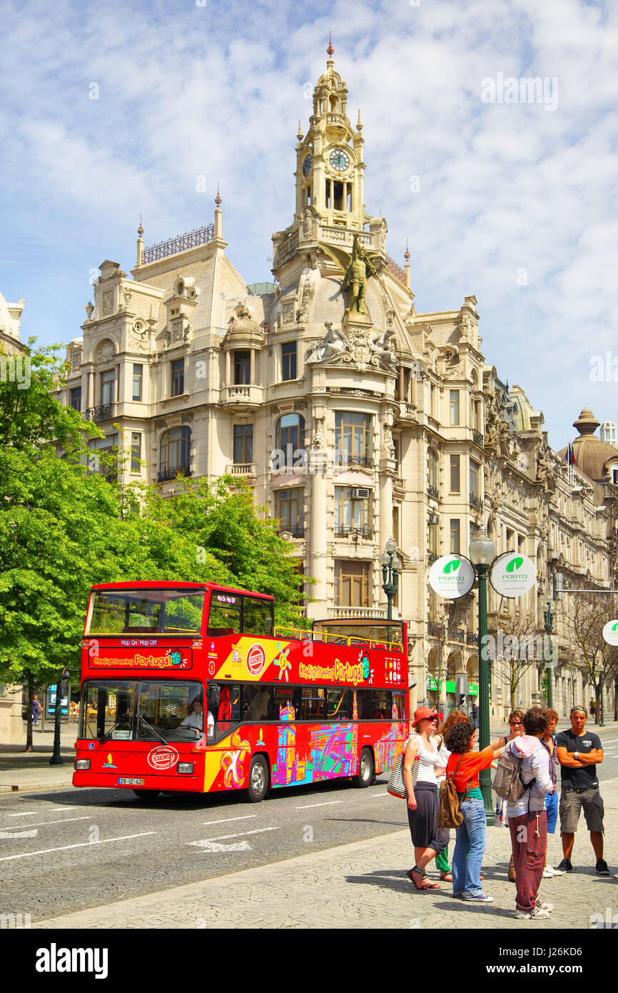
[[[605,858],[618,871],[618,780],[601,783],[605,802]],[[452,853],[454,842],[449,851]],[[574,871],[544,880],[541,899],[554,904],[548,921],[516,921],[509,883],[508,829],[488,829],[483,875],[486,907],[452,900],[451,884],[418,893],[406,878],[412,865],[409,832],[395,831],[327,851],[175,887],[77,914],[33,923],[33,928],[394,927],[589,928],[618,912],[618,881],[595,874],[583,816],[575,836]],[[561,858],[559,834],[550,836],[549,861]],[[594,918],[598,915],[599,918]]]

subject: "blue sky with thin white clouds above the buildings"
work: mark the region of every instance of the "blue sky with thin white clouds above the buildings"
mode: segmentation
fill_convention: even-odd
[[[593,356],[618,365],[618,7],[201,2],[1,0],[0,291],[26,300],[22,337],[78,337],[91,273],[134,264],[140,211],[146,244],[200,226],[217,180],[227,254],[269,279],[330,30],[367,211],[400,262],[410,237],[417,309],[475,294],[487,360],[556,449],[583,406],[618,421],[615,383],[590,379]],[[523,76],[545,96],[507,102]]]

